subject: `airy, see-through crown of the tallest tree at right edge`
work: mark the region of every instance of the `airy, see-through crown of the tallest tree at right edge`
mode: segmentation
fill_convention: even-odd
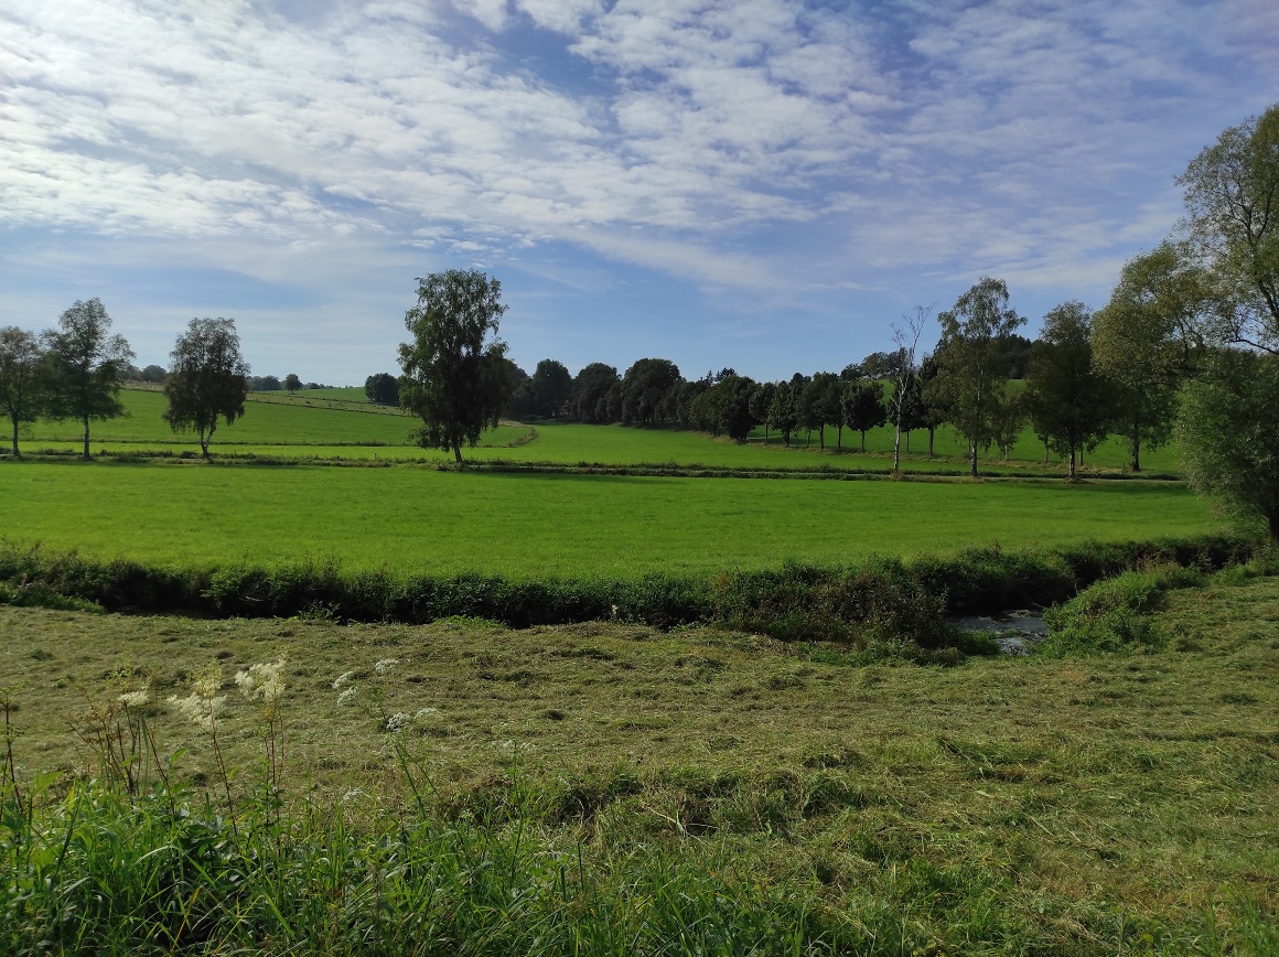
[[[1223,130],[1178,179],[1211,279],[1207,338],[1279,354],[1279,104]]]

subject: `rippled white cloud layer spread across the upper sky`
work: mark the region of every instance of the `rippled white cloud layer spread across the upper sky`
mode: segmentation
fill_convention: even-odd
[[[567,246],[792,304],[1095,288],[1265,107],[1275,49],[1269,0],[28,0],[0,13],[0,216],[188,249]]]

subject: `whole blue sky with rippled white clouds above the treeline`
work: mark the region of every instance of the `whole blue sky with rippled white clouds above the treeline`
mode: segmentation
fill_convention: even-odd
[[[1274,0],[9,0],[0,325],[97,296],[168,365],[228,316],[358,385],[417,276],[480,269],[530,372],[838,371],[984,275],[1033,335],[1175,228],[1276,51]]]

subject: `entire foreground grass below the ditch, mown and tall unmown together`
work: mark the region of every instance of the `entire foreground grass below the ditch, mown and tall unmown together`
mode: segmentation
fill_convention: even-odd
[[[45,844],[0,825],[17,865],[0,935],[12,951],[42,935],[100,951],[1273,953],[1276,583],[1168,592],[1160,649],[948,669],[620,623],[0,608],[17,778],[28,795],[33,774],[63,775],[42,791]],[[229,678],[281,655],[276,812],[253,798],[258,706]],[[101,771],[68,727],[86,727],[86,702],[147,683],[185,695],[210,661],[228,679],[238,830],[225,806],[211,815],[208,736],[166,705],[143,716],[161,759],[178,752],[189,818],[166,798],[68,795],[65,775]]]

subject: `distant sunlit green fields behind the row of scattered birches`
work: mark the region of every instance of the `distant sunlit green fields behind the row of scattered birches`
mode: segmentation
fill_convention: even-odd
[[[426,462],[446,462],[451,455],[439,450],[421,449],[408,444],[409,430],[416,420],[399,409],[372,406],[348,395],[350,389],[301,391],[295,397],[286,393],[253,393],[246,406],[243,418],[234,425],[219,426],[214,436],[214,454],[255,454],[284,458],[385,458]],[[330,394],[331,393],[331,394]],[[95,450],[115,453],[160,450],[198,450],[192,435],[175,435],[161,418],[165,409],[164,395],[155,390],[127,389],[122,399],[129,409],[128,418],[95,422],[91,427]],[[678,463],[702,464],[723,468],[866,468],[885,471],[891,467],[893,434],[877,429],[867,434],[867,454],[859,448],[859,436],[845,430],[843,450],[835,450],[835,435],[828,430],[829,449],[819,449],[817,436],[807,444],[807,436],[797,436],[792,448],[780,445],[776,435],[767,447],[762,431],[756,430],[751,441],[737,444],[728,439],[712,439],[698,432],[665,429],[629,429],[623,426],[587,426],[540,423],[536,439],[527,439],[527,427],[503,426],[486,432],[480,448],[464,454],[472,459],[504,458],[517,462],[555,462],[565,464],[633,464]],[[916,432],[913,454],[906,459],[911,471],[966,471],[967,461],[953,430],[938,431],[935,450],[930,459],[927,435]],[[23,439],[28,452],[49,449],[78,452],[78,427],[74,422],[38,422]],[[298,447],[298,448],[290,448]],[[904,448],[904,445],[903,445]],[[1127,452],[1119,439],[1108,440],[1095,454],[1087,457],[1087,467],[1119,470],[1127,464]],[[1159,449],[1142,458],[1147,471],[1177,471],[1179,468],[1173,449]],[[1000,471],[1042,472],[1044,447],[1027,431],[1005,462],[998,453],[982,457],[984,467]],[[1062,471],[1062,461],[1053,457],[1049,471]],[[1087,470],[1086,470],[1087,471]]]

